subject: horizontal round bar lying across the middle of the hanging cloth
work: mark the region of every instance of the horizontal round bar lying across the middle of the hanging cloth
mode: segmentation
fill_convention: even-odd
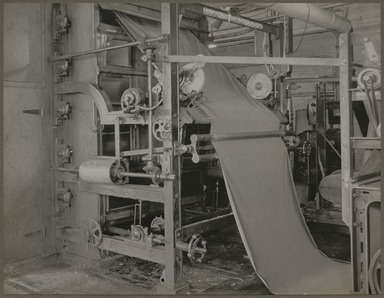
[[[259,131],[259,132],[201,134],[201,135],[193,134],[191,135],[190,139],[192,142],[230,141],[230,140],[243,140],[243,139],[283,137],[291,134],[293,134],[292,131]]]

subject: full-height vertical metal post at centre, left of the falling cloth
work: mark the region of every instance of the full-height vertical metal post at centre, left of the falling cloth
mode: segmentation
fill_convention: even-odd
[[[161,4],[162,33],[170,36],[162,47],[164,55],[178,55],[178,4]],[[172,148],[179,141],[179,80],[176,63],[163,62],[163,100],[166,115],[172,121],[171,140],[164,141],[165,148]],[[165,281],[166,289],[176,292],[183,286],[182,251],[176,248],[176,241],[181,235],[181,197],[180,197],[180,157],[172,151],[164,153],[162,171],[177,175],[176,181],[164,182],[164,228],[165,228]]]

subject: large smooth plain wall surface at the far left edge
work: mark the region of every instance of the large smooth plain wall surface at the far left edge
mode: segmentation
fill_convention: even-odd
[[[46,17],[41,3],[4,5],[5,262],[43,255],[52,247],[51,123],[33,113],[50,114]]]

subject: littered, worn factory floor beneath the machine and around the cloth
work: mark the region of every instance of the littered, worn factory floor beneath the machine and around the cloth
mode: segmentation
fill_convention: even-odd
[[[349,237],[332,226],[311,225],[315,241],[332,258],[349,259]],[[257,277],[237,227],[206,235],[208,253],[202,264],[185,261],[187,286],[180,294],[269,295]],[[158,294],[161,265],[126,256],[79,262],[59,255],[8,264],[5,294]]]

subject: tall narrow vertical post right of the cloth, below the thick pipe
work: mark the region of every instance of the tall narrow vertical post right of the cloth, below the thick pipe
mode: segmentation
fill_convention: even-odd
[[[349,32],[339,35],[339,53],[342,65],[340,66],[340,129],[341,129],[341,206],[342,219],[344,223],[352,230],[352,187],[351,177],[353,176],[353,152],[351,144],[351,136],[353,136],[352,124],[352,99],[350,96],[351,88],[351,35]],[[356,281],[354,280],[355,264],[353,256],[354,237],[351,237],[351,274],[353,284],[351,288],[355,288]]]

